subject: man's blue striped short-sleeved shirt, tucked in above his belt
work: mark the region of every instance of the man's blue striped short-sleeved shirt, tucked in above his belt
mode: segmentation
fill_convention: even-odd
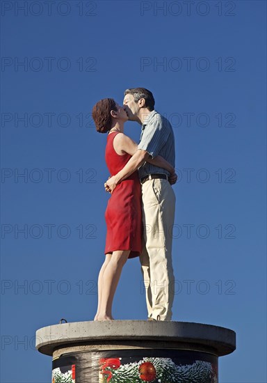
[[[138,149],[147,151],[152,157],[161,155],[166,161],[175,167],[175,135],[172,125],[167,118],[161,116],[157,111],[149,113],[142,125],[142,132]],[[139,178],[152,173],[165,173],[170,175],[165,169],[159,168],[145,162],[138,169]]]

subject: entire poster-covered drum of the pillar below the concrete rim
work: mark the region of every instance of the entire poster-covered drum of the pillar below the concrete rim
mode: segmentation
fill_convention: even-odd
[[[52,383],[218,383],[218,357],[195,350],[83,350],[52,363]]]

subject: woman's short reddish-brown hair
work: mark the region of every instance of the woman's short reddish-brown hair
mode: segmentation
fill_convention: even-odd
[[[92,108],[92,118],[95,121],[97,132],[106,133],[111,130],[111,111],[117,111],[113,98],[104,98]]]

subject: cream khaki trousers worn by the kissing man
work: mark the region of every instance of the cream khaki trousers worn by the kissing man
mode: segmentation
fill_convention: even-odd
[[[175,277],[172,269],[172,228],[175,193],[168,180],[142,185],[143,251],[140,256],[148,318],[172,319]]]

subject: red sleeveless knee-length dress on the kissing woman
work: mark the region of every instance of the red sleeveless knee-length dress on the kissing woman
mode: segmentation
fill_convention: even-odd
[[[108,134],[106,143],[106,165],[111,175],[120,171],[131,155],[118,155],[113,140],[118,132]],[[129,258],[140,256],[142,250],[141,185],[138,171],[120,182],[115,188],[105,212],[106,247],[105,254],[116,250],[131,250]]]

